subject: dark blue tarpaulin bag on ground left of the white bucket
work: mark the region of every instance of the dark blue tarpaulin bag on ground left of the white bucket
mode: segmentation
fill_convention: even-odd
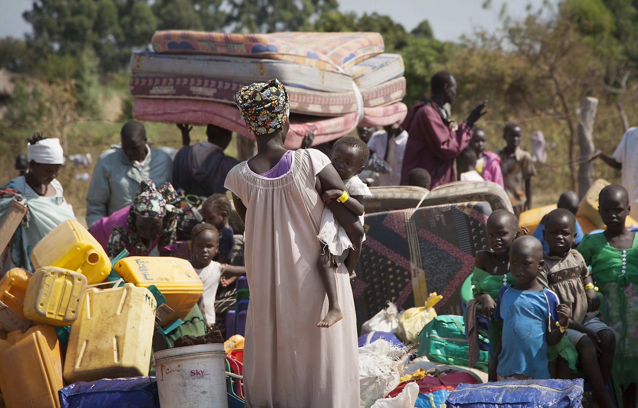
[[[100,379],[57,391],[61,408],[159,408],[155,377]]]

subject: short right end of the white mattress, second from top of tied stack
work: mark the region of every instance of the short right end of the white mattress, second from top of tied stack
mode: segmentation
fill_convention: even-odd
[[[346,69],[359,88],[369,88],[403,76],[405,67],[399,54],[383,53]]]

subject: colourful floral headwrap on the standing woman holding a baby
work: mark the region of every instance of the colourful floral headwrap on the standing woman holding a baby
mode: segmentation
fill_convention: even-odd
[[[235,95],[235,103],[249,132],[255,136],[281,130],[290,115],[286,87],[277,78],[241,88]]]

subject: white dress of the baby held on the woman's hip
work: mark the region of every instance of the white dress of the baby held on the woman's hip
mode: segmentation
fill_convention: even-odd
[[[370,192],[370,189],[367,188],[366,183],[361,181],[359,176],[356,174],[349,179],[343,180],[343,183],[345,184],[346,191],[349,195],[362,195],[364,197],[372,196],[372,193]],[[361,215],[359,218],[361,225],[363,225],[364,216]],[[346,234],[343,227],[339,225],[339,222],[334,219],[334,215],[328,206],[324,206],[323,208],[321,227],[317,238],[321,241],[323,250],[328,250],[332,254],[332,258],[334,258],[337,265],[343,263],[345,258],[348,256],[346,250],[354,248],[352,242],[350,242],[350,238],[348,238],[348,234]],[[363,240],[366,241],[366,236],[363,237]]]

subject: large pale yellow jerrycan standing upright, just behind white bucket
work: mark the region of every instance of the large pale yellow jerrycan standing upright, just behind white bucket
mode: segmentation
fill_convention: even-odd
[[[86,290],[71,325],[64,379],[68,383],[149,374],[156,302],[146,288]]]

